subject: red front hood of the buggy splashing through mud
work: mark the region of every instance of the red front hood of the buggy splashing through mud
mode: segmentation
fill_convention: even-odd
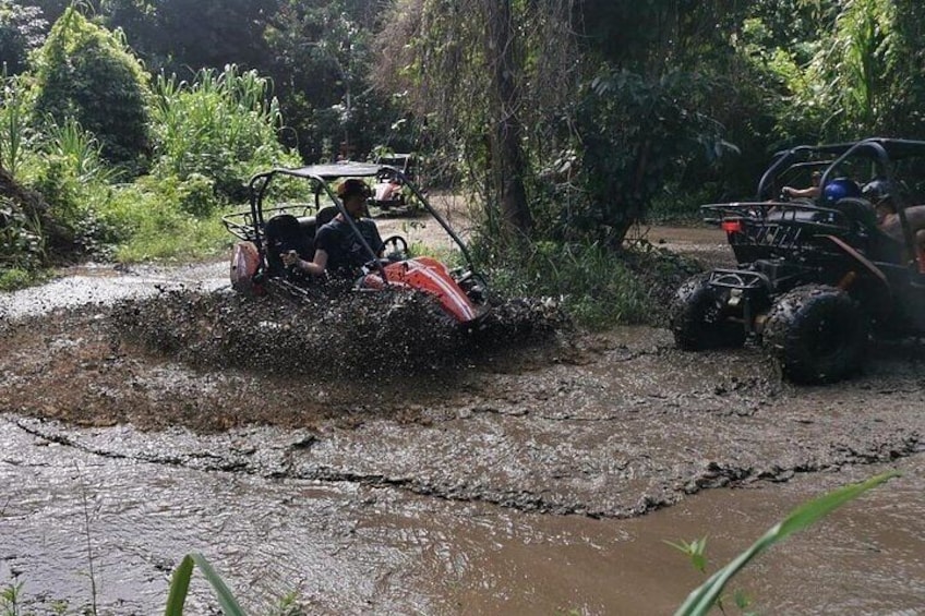
[[[477,306],[459,287],[449,269],[441,262],[419,256],[408,261],[389,263],[382,269],[389,286],[416,289],[434,295],[441,307],[461,324],[471,324],[485,314],[484,307]],[[360,281],[363,289],[383,289],[380,271],[367,274]]]

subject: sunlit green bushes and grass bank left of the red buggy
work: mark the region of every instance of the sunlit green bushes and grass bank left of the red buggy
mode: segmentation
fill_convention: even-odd
[[[124,40],[72,9],[34,58],[0,89],[0,289],[61,264],[220,251],[249,178],[300,162],[254,71],[152,84]]]

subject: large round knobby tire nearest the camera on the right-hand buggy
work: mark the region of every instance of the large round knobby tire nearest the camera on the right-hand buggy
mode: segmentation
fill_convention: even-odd
[[[762,343],[794,383],[832,383],[861,370],[869,324],[845,291],[806,285],[784,293],[768,314]]]

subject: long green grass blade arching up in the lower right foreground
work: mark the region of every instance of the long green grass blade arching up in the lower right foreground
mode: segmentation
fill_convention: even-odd
[[[766,532],[752,547],[736,556],[729,565],[710,576],[706,582],[687,595],[687,600],[674,613],[674,616],[706,615],[723,592],[729,580],[754,557],[768,549],[774,543],[783,541],[789,535],[802,531],[821,518],[825,518],[849,500],[857,498],[872,487],[876,487],[894,476],[899,476],[899,474],[897,471],[889,471],[873,476],[867,481],[834,490],[819,498],[798,506],[786,518]]]

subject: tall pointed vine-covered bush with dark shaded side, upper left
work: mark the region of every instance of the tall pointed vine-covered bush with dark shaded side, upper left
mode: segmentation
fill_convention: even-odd
[[[75,120],[99,141],[109,162],[132,171],[144,166],[147,76],[123,40],[69,8],[36,61],[39,123]]]

